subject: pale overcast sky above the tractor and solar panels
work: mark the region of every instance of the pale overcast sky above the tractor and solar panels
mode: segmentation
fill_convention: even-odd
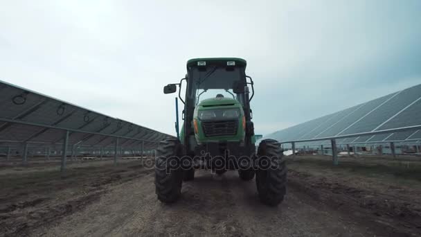
[[[421,83],[421,1],[0,0],[0,80],[174,132],[186,61],[240,57],[257,134]]]

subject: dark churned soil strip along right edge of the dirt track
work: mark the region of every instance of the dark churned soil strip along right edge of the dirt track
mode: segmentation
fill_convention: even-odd
[[[330,207],[348,213],[355,219],[364,218],[364,224],[377,233],[390,236],[419,236],[420,210],[384,193],[373,193],[352,188],[334,180],[316,178],[289,170],[289,186],[305,193],[313,200],[328,203]]]

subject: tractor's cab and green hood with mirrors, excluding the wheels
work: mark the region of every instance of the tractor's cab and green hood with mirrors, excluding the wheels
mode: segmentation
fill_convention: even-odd
[[[181,79],[178,84],[164,87],[164,93],[167,94],[175,92],[176,86],[179,86],[179,98],[184,103],[180,140],[185,145],[186,153],[193,155],[197,145],[207,141],[222,141],[222,146],[227,141],[238,141],[247,145],[245,147],[254,149],[250,109],[254,89],[253,80],[246,76],[246,66],[246,60],[241,58],[191,59],[187,62],[186,78]],[[181,88],[186,89],[184,98],[181,98]],[[232,123],[225,123],[227,117],[217,116],[224,109],[234,109],[226,114],[236,111],[238,118],[234,121],[231,117]],[[208,119],[203,119],[206,118],[206,113],[209,116],[215,115],[211,121],[212,124],[218,123],[218,128],[206,126],[211,123]],[[233,126],[238,126],[238,129],[230,130]],[[216,131],[211,131],[210,128],[215,128]]]

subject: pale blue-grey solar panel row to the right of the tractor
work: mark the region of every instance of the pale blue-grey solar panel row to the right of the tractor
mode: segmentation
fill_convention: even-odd
[[[376,132],[415,125],[421,125],[421,85],[274,132],[269,134],[267,138],[281,142],[297,141]],[[339,139],[337,142],[364,143],[418,140],[421,140],[421,132],[411,130]],[[308,145],[320,143],[320,141],[307,142]]]

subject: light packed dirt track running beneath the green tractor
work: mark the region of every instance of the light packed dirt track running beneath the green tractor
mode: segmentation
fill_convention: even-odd
[[[34,236],[373,236],[325,204],[289,189],[279,207],[260,203],[254,179],[206,171],[183,183],[174,204],[161,204],[149,173],[113,186],[98,202]]]

